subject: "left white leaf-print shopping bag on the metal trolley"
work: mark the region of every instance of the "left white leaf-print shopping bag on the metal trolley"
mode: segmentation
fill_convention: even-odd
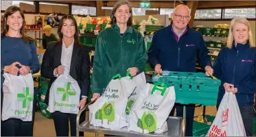
[[[119,79],[115,79],[116,77]],[[135,84],[130,77],[113,76],[102,96],[95,103],[89,105],[91,125],[110,129],[121,129],[128,126],[126,104],[134,89]]]

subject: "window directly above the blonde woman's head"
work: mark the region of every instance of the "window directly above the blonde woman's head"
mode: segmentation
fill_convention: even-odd
[[[244,16],[244,18],[255,18],[255,14],[255,8],[225,8],[223,18],[233,18],[236,16]]]

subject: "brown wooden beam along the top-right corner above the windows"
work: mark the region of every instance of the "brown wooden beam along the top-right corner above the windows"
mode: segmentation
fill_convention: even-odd
[[[198,8],[228,8],[254,6],[256,1],[199,1]]]

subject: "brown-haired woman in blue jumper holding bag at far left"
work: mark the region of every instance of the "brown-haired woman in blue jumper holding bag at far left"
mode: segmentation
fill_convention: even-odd
[[[3,103],[3,73],[27,75],[39,71],[34,40],[24,32],[25,18],[21,9],[10,6],[3,15],[1,34],[1,108]],[[32,121],[8,119],[1,121],[1,136],[33,136],[34,108]]]

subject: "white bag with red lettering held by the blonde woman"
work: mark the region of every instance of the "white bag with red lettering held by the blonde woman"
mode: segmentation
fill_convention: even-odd
[[[246,136],[235,95],[226,92],[207,136]]]

